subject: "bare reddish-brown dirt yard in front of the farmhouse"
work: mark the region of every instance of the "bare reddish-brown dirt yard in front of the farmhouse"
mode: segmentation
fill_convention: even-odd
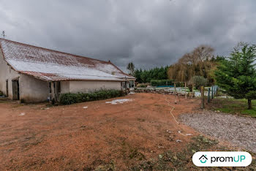
[[[174,104],[193,113],[197,99]],[[0,170],[90,170],[112,164],[118,170],[179,151],[197,133],[177,124],[162,94],[131,94],[123,104],[113,99],[69,106],[0,102]],[[178,133],[178,132],[181,132]],[[177,141],[178,140],[178,141]],[[181,141],[179,141],[181,140]]]

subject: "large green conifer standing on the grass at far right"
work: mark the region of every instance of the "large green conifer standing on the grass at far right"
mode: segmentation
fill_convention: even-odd
[[[256,45],[241,42],[215,71],[217,84],[235,99],[247,99],[248,109],[256,99],[255,60]]]

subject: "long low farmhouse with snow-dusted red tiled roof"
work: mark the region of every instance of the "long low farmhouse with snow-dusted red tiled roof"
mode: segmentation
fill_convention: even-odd
[[[0,39],[0,91],[13,100],[43,102],[60,94],[121,90],[135,77],[110,61]]]

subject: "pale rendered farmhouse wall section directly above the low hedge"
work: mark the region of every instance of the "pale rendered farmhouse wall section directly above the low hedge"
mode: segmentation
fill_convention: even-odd
[[[121,90],[121,83],[116,81],[69,81],[70,93],[89,93],[100,89]]]

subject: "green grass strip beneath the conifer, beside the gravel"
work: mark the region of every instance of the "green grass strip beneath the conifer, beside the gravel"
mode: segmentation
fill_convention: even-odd
[[[256,118],[256,100],[252,100],[252,110],[248,110],[246,99],[214,99],[209,107],[222,113],[250,115]]]

